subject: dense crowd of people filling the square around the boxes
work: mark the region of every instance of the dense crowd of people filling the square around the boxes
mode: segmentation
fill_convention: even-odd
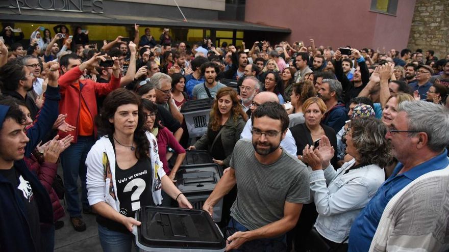
[[[203,209],[223,199],[227,251],[449,249],[449,54],[52,30],[0,34],[0,250],[53,251],[65,214],[94,214],[103,250],[131,251],[141,206],[193,208],[189,150],[224,170]]]

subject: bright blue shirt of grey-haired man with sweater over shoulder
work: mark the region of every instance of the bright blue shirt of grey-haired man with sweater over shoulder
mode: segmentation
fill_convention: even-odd
[[[446,155],[447,150],[444,149],[438,156],[416,165],[403,174],[397,174],[404,166],[402,163],[398,163],[392,175],[381,185],[376,195],[355,219],[349,234],[348,251],[368,251],[382,213],[391,198],[419,176],[444,169],[449,164],[449,158]]]

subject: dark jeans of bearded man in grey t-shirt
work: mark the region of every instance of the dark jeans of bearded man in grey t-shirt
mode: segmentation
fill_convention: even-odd
[[[229,225],[226,229],[226,238],[233,235],[235,232],[248,231],[243,225],[241,225],[237,220],[231,217]],[[286,235],[281,235],[275,238],[263,238],[252,240],[243,243],[238,249],[233,249],[234,252],[286,252],[287,251],[287,241]]]

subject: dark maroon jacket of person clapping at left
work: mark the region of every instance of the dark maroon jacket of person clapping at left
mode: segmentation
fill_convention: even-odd
[[[39,160],[32,154],[29,158],[24,157],[23,160],[28,166],[28,169],[37,176],[41,184],[44,186],[50,195],[50,200],[52,201],[53,207],[53,219],[57,221],[58,219],[64,217],[65,212],[61,203],[59,202],[58,195],[52,187],[53,180],[58,169],[56,163],[43,162]]]

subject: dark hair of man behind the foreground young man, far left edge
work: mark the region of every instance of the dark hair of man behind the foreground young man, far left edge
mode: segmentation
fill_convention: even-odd
[[[26,78],[24,67],[20,60],[13,60],[0,68],[0,89],[2,92],[16,91],[19,88],[19,81]]]

